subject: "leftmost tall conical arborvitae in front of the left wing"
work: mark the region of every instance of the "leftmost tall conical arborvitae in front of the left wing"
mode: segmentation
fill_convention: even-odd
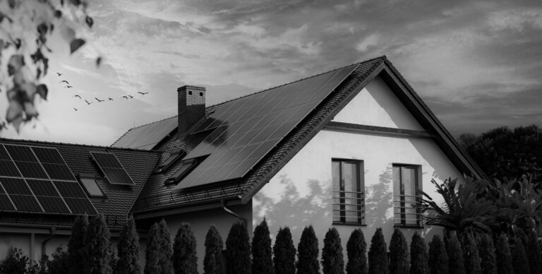
[[[68,273],[80,274],[88,268],[87,241],[88,216],[83,215],[76,218],[71,227],[71,235],[68,240]]]

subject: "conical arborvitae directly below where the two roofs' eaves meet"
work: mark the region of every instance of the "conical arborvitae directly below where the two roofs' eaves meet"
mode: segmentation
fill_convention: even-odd
[[[118,259],[115,263],[117,274],[139,274],[139,235],[135,230],[135,221],[130,216],[122,227],[119,244],[116,245]]]

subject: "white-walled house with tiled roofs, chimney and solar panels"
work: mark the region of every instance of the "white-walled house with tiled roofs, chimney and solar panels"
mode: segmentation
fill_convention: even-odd
[[[210,107],[205,88],[183,86],[177,97],[176,116],[131,129],[111,147],[0,139],[11,156],[0,146],[0,157],[19,165],[10,145],[56,148],[74,187],[112,216],[114,233],[121,222],[114,216],[128,213],[142,236],[162,218],[172,234],[191,223],[200,268],[210,225],[225,239],[234,222],[252,231],[267,218],[272,234],[288,225],[294,242],[313,225],[320,248],[331,226],[343,245],[357,227],[368,241],[377,227],[388,242],[394,227],[407,238],[428,235],[435,227],[411,208],[416,189],[431,194],[432,179],[484,176],[385,56]],[[0,174],[0,184],[8,177]],[[38,258],[40,246],[49,253],[66,242],[77,210],[23,213],[8,203],[16,203],[13,191],[1,191],[0,256],[17,243]]]

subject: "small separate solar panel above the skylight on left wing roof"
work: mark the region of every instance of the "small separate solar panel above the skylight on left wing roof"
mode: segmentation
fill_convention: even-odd
[[[126,169],[122,166],[119,159],[116,158],[116,155],[113,153],[98,153],[91,151],[90,154],[102,169],[105,177],[111,184],[124,184],[132,185],[133,180],[131,179]]]

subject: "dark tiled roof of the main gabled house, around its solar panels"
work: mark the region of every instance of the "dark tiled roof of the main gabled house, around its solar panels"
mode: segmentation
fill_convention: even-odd
[[[251,201],[255,193],[277,174],[279,169],[286,165],[291,157],[294,157],[303,148],[303,145],[308,143],[320,129],[323,129],[335,117],[335,114],[347,105],[376,76],[381,76],[390,85],[395,95],[411,111],[421,126],[428,133],[435,136],[435,142],[460,171],[472,174],[474,177],[484,177],[483,172],[481,172],[469,155],[458,145],[457,141],[452,138],[444,126],[440,124],[435,115],[430,112],[430,109],[421,101],[421,98],[416,95],[410,85],[404,81],[404,78],[392,66],[391,62],[385,56],[381,56],[357,64],[356,69],[330,95],[325,97],[287,136],[282,138],[282,141],[275,148],[272,148],[243,178],[193,189],[176,190],[175,185],[168,186],[164,182],[181,167],[181,161],[177,161],[166,172],[152,174],[132,208],[133,213],[150,213],[152,211],[169,210],[188,205],[225,200],[234,200],[239,203]],[[239,98],[236,100],[239,100]],[[224,103],[207,107],[206,117],[223,105]],[[174,117],[169,119],[174,119]],[[154,126],[157,126],[157,124],[149,124],[143,126],[143,128],[148,127],[150,129],[150,127]],[[146,131],[144,129],[138,130],[142,132]],[[172,129],[172,131],[167,133],[167,136],[164,135],[161,140],[155,141],[156,145],[153,148],[164,151],[159,160],[159,162],[164,162],[171,153],[178,152],[179,150],[190,153],[208,134],[209,132],[188,134],[184,138],[179,139],[176,129]],[[131,136],[130,138],[137,137]],[[124,141],[121,139],[119,141],[123,143]],[[116,141],[116,143],[119,143],[119,141]]]

